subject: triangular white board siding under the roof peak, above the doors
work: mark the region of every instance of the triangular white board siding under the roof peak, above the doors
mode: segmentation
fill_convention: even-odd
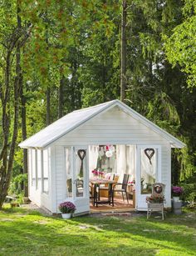
[[[100,113],[87,123],[56,141],[56,145],[81,145],[97,143],[168,143],[158,133],[147,128],[117,107]]]

